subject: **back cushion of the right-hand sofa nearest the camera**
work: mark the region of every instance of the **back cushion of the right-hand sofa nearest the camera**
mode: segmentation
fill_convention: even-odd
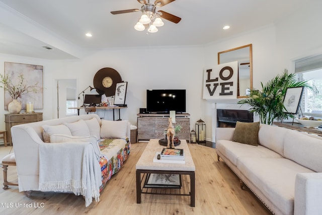
[[[286,135],[285,158],[315,172],[322,172],[322,140],[294,130],[288,130]]]

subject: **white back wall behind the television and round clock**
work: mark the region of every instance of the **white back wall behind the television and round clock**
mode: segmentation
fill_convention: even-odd
[[[44,73],[51,73],[51,80],[44,81],[50,93],[55,97],[56,89],[53,80],[76,79],[77,92],[89,85],[93,87],[93,78],[103,67],[112,67],[128,82],[126,104],[128,108],[121,110],[121,118],[128,119],[136,125],[136,114],[139,108],[146,107],[147,89],[186,89],[187,112],[191,114],[192,128],[194,123],[203,117],[201,111],[202,74],[204,67],[204,47],[145,47],[119,48],[101,50],[82,60],[55,61]],[[45,70],[45,69],[44,69]],[[49,87],[50,86],[50,87]],[[79,102],[82,105],[82,101]],[[54,110],[52,102],[49,111]],[[47,110],[44,110],[47,111]],[[101,111],[101,112],[100,112]],[[118,118],[116,111],[116,118]],[[101,117],[111,120],[112,111],[97,112]],[[82,114],[82,111],[81,111]]]

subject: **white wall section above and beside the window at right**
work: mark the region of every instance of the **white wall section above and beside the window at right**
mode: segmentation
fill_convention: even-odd
[[[307,3],[306,3],[307,2]],[[294,60],[322,53],[322,1],[305,1],[301,8],[276,23],[277,65],[294,71]]]

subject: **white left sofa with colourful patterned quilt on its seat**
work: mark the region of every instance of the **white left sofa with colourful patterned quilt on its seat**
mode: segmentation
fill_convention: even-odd
[[[59,126],[65,127],[64,129],[61,129],[61,127]],[[68,132],[66,132],[66,126]],[[86,130],[86,132],[84,131],[84,129]],[[88,131],[90,133],[88,133]],[[93,144],[93,152],[95,152],[95,150],[98,150],[98,153],[101,153],[101,155],[104,154],[104,156],[106,157],[106,164],[101,164],[102,161],[100,160],[100,158],[97,158],[98,163],[100,162],[102,169],[103,184],[101,185],[100,191],[106,184],[107,180],[110,179],[111,175],[116,173],[121,168],[123,161],[127,159],[130,153],[130,123],[127,120],[101,120],[100,117],[96,114],[71,116],[60,119],[16,125],[11,128],[11,132],[17,163],[19,191],[41,190],[39,185],[39,169],[41,165],[39,154],[40,148],[42,146],[61,147],[63,145],[68,146],[67,144],[70,144],[71,142],[74,142],[76,146],[76,144],[82,145],[81,142],[89,141],[83,140],[83,138],[94,138],[95,140],[90,141]],[[102,135],[103,138],[114,137],[117,139],[114,139],[113,141],[111,140],[112,142],[109,142],[109,145],[102,146],[98,141],[96,141],[97,139],[100,139]],[[46,143],[45,141],[49,137],[51,138],[51,140],[47,141],[50,141],[50,143]],[[128,137],[128,139],[126,137]],[[58,144],[58,142],[60,142],[60,144]],[[74,153],[72,151],[68,152],[67,155],[72,157]],[[52,162],[53,164],[56,164],[60,161],[55,159]],[[82,164],[80,163],[79,165]],[[102,166],[106,168],[104,172],[104,182]],[[100,166],[98,167],[100,170]],[[57,168],[63,169],[65,167],[57,165]]]

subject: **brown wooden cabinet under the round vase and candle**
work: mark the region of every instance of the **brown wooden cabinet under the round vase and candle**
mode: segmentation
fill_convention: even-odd
[[[5,114],[7,141],[12,142],[12,139],[11,139],[12,126],[31,123],[31,122],[39,122],[39,121],[42,121],[42,113]]]

